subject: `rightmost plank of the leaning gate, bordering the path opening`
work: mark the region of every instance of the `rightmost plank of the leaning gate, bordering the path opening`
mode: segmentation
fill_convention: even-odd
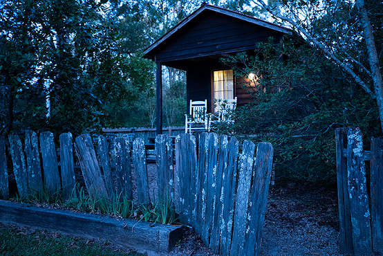
[[[273,152],[270,143],[259,143],[256,148],[250,206],[247,214],[248,223],[243,246],[244,255],[257,256],[261,250],[262,228],[268,203]]]

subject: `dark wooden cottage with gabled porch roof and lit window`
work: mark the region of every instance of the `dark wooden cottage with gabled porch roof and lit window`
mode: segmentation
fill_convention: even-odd
[[[214,111],[214,99],[237,97],[241,106],[252,98],[233,71],[219,61],[243,51],[254,53],[256,43],[276,43],[292,30],[268,21],[204,3],[144,51],[144,57],[157,64],[157,116],[162,117],[162,65],[186,71],[187,102],[207,100],[207,111]],[[162,118],[157,118],[161,132]]]

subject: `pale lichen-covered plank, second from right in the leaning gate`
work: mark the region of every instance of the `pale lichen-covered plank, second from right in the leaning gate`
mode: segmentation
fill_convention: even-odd
[[[251,141],[243,142],[242,154],[239,156],[239,181],[236,192],[236,205],[234,214],[234,229],[230,255],[243,254],[243,237],[246,232],[247,205],[249,203],[250,183],[252,180],[252,168],[254,162],[255,145]]]

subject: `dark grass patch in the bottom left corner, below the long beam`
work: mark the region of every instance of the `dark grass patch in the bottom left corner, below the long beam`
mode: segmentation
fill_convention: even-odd
[[[0,255],[142,256],[95,239],[86,240],[46,230],[21,230],[7,226],[0,227]]]

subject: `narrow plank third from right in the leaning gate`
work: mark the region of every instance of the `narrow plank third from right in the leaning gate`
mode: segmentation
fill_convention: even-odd
[[[221,254],[225,255],[230,252],[230,244],[232,241],[232,228],[234,217],[234,200],[237,178],[237,165],[239,155],[239,143],[235,137],[230,138],[227,147],[227,167],[223,173],[223,216],[221,230]]]

